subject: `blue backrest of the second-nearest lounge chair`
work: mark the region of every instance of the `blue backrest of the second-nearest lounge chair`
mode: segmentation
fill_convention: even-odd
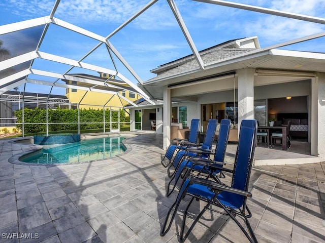
[[[230,120],[222,119],[220,123],[218,142],[215,147],[214,161],[223,162],[230,132]]]

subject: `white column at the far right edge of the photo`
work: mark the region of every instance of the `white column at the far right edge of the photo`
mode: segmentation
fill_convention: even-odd
[[[325,158],[325,74],[311,80],[311,155]]]

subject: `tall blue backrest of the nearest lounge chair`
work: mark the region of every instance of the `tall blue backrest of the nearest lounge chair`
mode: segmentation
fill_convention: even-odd
[[[254,159],[254,151],[256,146],[256,132],[257,132],[257,121],[242,120],[238,138],[238,146],[236,151],[234,173],[232,178],[232,187],[248,190],[248,182],[250,172]],[[245,196],[231,193],[231,197],[236,201],[240,207],[243,205]]]

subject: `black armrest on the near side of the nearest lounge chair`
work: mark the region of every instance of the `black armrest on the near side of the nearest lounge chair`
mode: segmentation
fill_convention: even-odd
[[[244,191],[244,190],[240,190],[237,188],[229,187],[229,186],[217,183],[212,180],[207,180],[207,179],[198,178],[198,177],[191,177],[190,183],[196,183],[196,184],[201,184],[201,185],[210,187],[213,192],[228,191],[228,192],[235,193],[235,194],[238,194],[241,196],[252,197],[252,193],[250,193],[249,191]]]

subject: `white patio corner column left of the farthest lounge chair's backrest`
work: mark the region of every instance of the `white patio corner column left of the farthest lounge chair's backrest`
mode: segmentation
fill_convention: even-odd
[[[164,129],[163,129],[163,149],[167,149],[171,141],[171,113],[172,99],[171,90],[167,86],[164,87]]]

